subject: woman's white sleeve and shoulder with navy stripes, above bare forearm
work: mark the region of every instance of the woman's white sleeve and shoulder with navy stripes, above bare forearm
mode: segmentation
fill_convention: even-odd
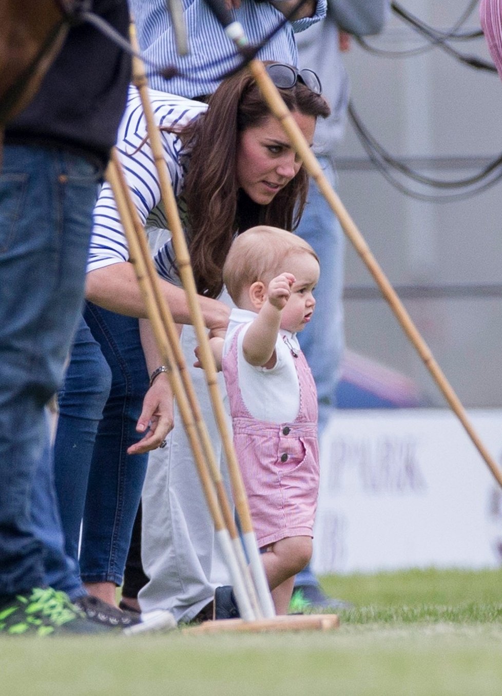
[[[150,92],[150,101],[159,125],[184,125],[207,108],[183,97]],[[135,88],[130,97],[118,131],[117,150],[127,184],[141,222],[152,221],[156,227],[166,225],[160,203],[160,187],[150,144],[145,142],[146,121],[141,100]],[[182,189],[182,142],[172,133],[162,132],[164,156],[171,175],[173,192],[178,199]],[[93,214],[93,235],[88,255],[88,271],[129,260],[129,250],[116,203],[107,182],[98,196]]]

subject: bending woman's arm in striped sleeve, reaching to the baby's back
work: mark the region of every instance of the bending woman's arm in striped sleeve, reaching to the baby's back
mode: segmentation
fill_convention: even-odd
[[[205,110],[205,105],[187,102],[175,95],[156,95],[156,118],[168,125],[189,122]],[[132,89],[123,122],[120,125],[118,156],[130,187],[132,200],[145,223],[157,207],[161,195],[155,159],[150,144],[144,142],[146,125],[141,100]],[[162,132],[164,155],[171,176],[175,196],[182,188],[183,171],[180,164],[180,141],[175,134]],[[159,212],[162,216],[162,212]],[[167,280],[161,280],[162,294],[175,321],[189,324],[189,310],[185,292]],[[132,317],[146,317],[146,307],[139,290],[134,268],[129,262],[127,239],[120,221],[113,193],[105,183],[94,209],[93,235],[88,258],[86,279],[88,299],[104,308]],[[229,310],[216,300],[201,297],[201,308],[210,329],[225,329]]]

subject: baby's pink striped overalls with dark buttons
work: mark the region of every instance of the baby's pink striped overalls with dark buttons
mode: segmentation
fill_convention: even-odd
[[[304,354],[293,354],[300,387],[297,418],[289,423],[256,420],[237,379],[237,335],[223,358],[233,441],[258,546],[286,537],[312,536],[319,489],[317,393]],[[279,337],[278,340],[282,340]]]

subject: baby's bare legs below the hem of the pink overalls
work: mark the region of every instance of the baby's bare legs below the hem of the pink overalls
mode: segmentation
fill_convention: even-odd
[[[294,577],[311,560],[311,556],[311,537],[286,537],[271,544],[267,553],[262,555],[265,575],[278,614],[285,614],[288,610]],[[288,580],[291,582],[287,582]],[[274,592],[276,589],[277,592]]]

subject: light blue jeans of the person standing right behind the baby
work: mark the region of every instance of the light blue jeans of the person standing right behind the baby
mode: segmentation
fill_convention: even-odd
[[[331,186],[336,172],[327,157],[320,165]],[[319,432],[327,423],[335,404],[335,391],[345,346],[343,331],[343,260],[345,237],[338,218],[317,185],[311,180],[308,202],[297,234],[310,244],[320,258],[321,274],[315,289],[315,312],[310,324],[298,334],[301,350],[317,387]],[[310,565],[295,578],[295,585],[317,585]]]

